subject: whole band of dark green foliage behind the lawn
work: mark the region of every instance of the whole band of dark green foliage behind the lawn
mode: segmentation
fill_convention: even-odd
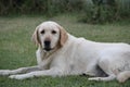
[[[0,15],[54,16],[70,12],[80,14],[84,23],[114,22],[130,17],[130,0],[0,0]]]

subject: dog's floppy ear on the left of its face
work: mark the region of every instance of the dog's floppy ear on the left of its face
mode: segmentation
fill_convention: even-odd
[[[31,39],[36,44],[36,46],[41,45],[40,39],[39,39],[39,35],[38,35],[38,29],[39,29],[39,26],[36,27],[35,32],[32,34],[32,37],[31,37]]]

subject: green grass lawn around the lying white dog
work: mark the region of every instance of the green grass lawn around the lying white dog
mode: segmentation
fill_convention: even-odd
[[[77,37],[105,42],[130,44],[130,21],[105,25],[78,23],[78,16],[64,14],[55,17],[17,16],[0,17],[0,70],[17,69],[36,65],[36,47],[31,42],[35,27],[43,21],[55,21],[67,32]],[[129,87],[130,80],[125,84],[113,82],[89,82],[86,76],[38,77],[25,80],[10,79],[0,76],[0,87]]]

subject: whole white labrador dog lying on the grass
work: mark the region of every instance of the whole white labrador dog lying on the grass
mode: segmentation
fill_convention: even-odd
[[[89,80],[117,78],[120,83],[130,77],[130,46],[127,44],[104,44],[77,38],[55,22],[43,22],[37,26],[32,39],[39,47],[36,52],[38,65],[0,70],[0,75],[25,79],[87,74],[94,76]]]

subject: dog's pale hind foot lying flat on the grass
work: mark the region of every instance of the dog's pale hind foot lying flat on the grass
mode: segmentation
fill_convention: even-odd
[[[109,75],[107,77],[90,77],[88,78],[89,80],[104,80],[104,82],[108,82],[108,80],[113,80],[116,78],[116,75]]]

